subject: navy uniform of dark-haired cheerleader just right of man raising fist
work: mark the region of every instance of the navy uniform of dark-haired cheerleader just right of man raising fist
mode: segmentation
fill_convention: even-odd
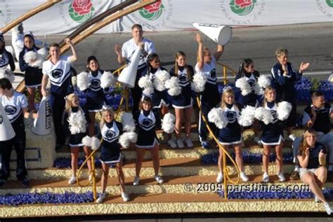
[[[100,112],[105,104],[104,91],[100,87],[100,78],[104,71],[90,71],[88,74],[89,88],[86,90],[86,109],[89,112]]]

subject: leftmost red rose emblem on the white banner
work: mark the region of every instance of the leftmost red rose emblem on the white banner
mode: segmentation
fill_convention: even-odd
[[[91,0],[73,0],[68,9],[70,18],[75,22],[84,23],[93,16],[93,4]]]

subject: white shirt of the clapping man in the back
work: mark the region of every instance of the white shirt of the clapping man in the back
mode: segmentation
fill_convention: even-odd
[[[155,46],[154,46],[154,43],[152,43],[152,41],[150,41],[149,39],[143,39],[143,43],[145,43],[144,48],[148,54],[155,53]],[[126,57],[126,62],[131,61],[131,56],[136,51],[137,47],[138,46],[136,45],[136,42],[134,41],[134,39],[130,39],[129,41],[126,41],[124,43],[124,45],[122,45],[122,56]],[[140,61],[138,64],[138,69],[145,66],[146,63],[147,63],[147,58],[144,57],[143,54],[141,54]]]

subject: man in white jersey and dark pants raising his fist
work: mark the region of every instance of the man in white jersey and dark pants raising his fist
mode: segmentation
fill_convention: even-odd
[[[65,144],[63,132],[63,111],[65,109],[65,97],[74,92],[71,81],[71,64],[77,60],[77,52],[70,41],[65,39],[65,43],[72,49],[71,56],[60,56],[60,46],[52,43],[49,46],[51,58],[43,62],[43,79],[41,81],[41,94],[46,97],[46,85],[48,79],[51,81],[50,104],[53,113],[53,124],[55,128],[56,144],[55,150],[59,150]]]

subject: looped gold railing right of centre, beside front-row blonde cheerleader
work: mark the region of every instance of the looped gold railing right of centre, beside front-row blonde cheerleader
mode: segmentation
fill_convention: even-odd
[[[214,132],[211,130],[211,127],[209,127],[209,124],[207,122],[206,117],[204,116],[204,113],[202,113],[202,109],[201,109],[201,102],[199,97],[197,97],[197,106],[199,107],[201,116],[202,116],[202,120],[204,120],[204,124],[206,124],[207,130],[209,131],[209,134],[211,134],[211,137],[213,137],[214,141],[216,142],[216,144],[218,144],[218,148],[219,151],[222,151],[222,155],[223,155],[223,165],[222,165],[222,169],[223,169],[223,190],[224,190],[224,200],[227,200],[228,198],[228,181],[230,181],[230,183],[233,184],[237,184],[240,182],[240,169],[238,169],[237,164],[235,162],[235,160],[233,160],[233,158],[230,156],[230,154],[228,153],[228,151],[226,151],[226,149],[218,142],[218,139],[216,138]],[[233,163],[233,165],[235,166],[235,169],[237,171],[237,179],[236,181],[233,181],[230,177],[229,177],[229,169],[227,167],[227,157],[231,160],[231,162]]]

